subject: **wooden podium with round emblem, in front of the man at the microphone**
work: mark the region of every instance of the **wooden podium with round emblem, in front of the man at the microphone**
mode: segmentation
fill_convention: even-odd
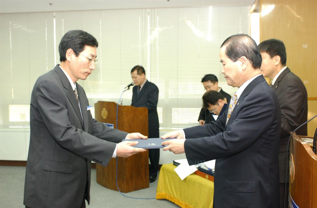
[[[95,119],[113,124],[116,128],[117,103],[95,103]],[[139,132],[148,136],[148,112],[146,107],[118,106],[118,129],[128,133]],[[116,159],[110,159],[107,167],[96,164],[96,178],[100,185],[118,191],[116,185]],[[118,157],[118,187],[121,192],[132,192],[149,187],[149,153]]]

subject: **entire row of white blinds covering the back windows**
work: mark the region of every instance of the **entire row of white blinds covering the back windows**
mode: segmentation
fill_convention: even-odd
[[[147,79],[159,88],[160,127],[195,126],[205,74],[215,74],[225,92],[236,91],[221,74],[219,49],[230,35],[249,34],[250,14],[249,6],[55,12],[55,34],[53,22],[53,12],[0,15],[0,55],[7,72],[0,83],[0,125],[29,125],[37,77],[60,63],[61,37],[82,29],[99,42],[96,69],[87,80],[78,81],[92,107],[97,101],[118,102],[132,81],[131,68],[142,65]],[[130,105],[131,98],[130,89],[123,105]]]

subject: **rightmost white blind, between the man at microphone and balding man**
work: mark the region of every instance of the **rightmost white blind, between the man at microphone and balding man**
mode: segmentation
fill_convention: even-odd
[[[154,17],[153,17],[154,16]],[[249,34],[249,6],[166,8],[152,11],[151,81],[159,87],[160,127],[191,127],[198,124],[205,90],[201,78],[215,74],[229,94],[221,74],[219,50],[236,33]]]

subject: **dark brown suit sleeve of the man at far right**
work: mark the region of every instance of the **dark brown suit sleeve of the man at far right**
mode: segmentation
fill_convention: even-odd
[[[302,87],[292,80],[283,80],[279,87],[286,89],[279,96],[281,105],[281,137],[289,136],[290,132],[297,128],[300,123],[301,109],[305,100],[305,92]]]

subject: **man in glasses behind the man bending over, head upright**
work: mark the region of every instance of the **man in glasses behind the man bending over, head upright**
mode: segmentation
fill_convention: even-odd
[[[201,79],[201,82],[203,83],[206,92],[209,92],[210,90],[217,91],[220,94],[222,94],[223,97],[226,98],[227,102],[230,101],[231,95],[224,92],[222,88],[218,86],[217,76],[212,74],[205,75]],[[199,124],[204,125],[205,123],[210,123],[211,121],[215,121],[213,115],[214,114],[212,112],[210,112],[207,108],[203,107],[200,110],[199,117],[198,117]]]

